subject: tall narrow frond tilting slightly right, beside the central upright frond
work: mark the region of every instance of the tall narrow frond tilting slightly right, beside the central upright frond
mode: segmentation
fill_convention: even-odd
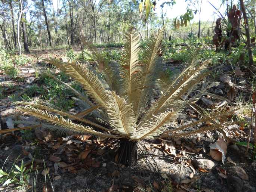
[[[164,27],[150,37],[149,44],[146,46],[144,51],[144,60],[142,61],[141,87],[150,88],[154,84],[155,61],[157,59],[158,49],[162,43],[163,32]],[[146,94],[149,92],[149,88],[140,89],[138,91],[139,102],[136,102],[133,106],[136,115],[139,113],[140,108],[143,107],[143,105],[141,106],[140,104],[142,103],[142,100],[146,98]]]

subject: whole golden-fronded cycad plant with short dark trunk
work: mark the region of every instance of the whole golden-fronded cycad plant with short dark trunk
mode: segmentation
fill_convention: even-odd
[[[187,136],[227,125],[224,117],[230,112],[221,109],[194,123],[169,130],[168,125],[176,121],[184,106],[195,102],[201,96],[198,92],[207,89],[203,87],[200,91],[194,92],[198,89],[201,80],[209,73],[207,66],[210,61],[200,63],[194,56],[189,61],[190,65],[170,81],[163,73],[158,72],[161,65],[158,65],[160,62],[156,62],[162,37],[163,28],[151,36],[146,49],[142,50],[142,59],[139,59],[141,50],[138,32],[134,27],[129,27],[124,44],[125,54],[118,65],[105,61],[101,52],[87,41],[83,43],[98,63],[98,69],[74,61],[50,60],[52,64],[79,82],[89,96],[84,96],[63,83],[78,96],[74,99],[80,103],[80,106],[86,106],[79,114],[70,114],[54,107],[25,102],[20,103],[24,106],[19,106],[18,109],[53,124],[54,126],[49,125],[49,127],[63,133],[74,131],[118,141],[117,160],[124,164],[136,160],[138,141],[157,137]],[[99,75],[97,70],[101,71],[102,75]],[[55,78],[52,74],[49,75]],[[154,89],[161,90],[162,94],[150,106],[149,100]],[[93,121],[84,118],[89,113],[95,117]],[[204,121],[212,122],[213,125],[184,131],[187,127],[193,127]]]

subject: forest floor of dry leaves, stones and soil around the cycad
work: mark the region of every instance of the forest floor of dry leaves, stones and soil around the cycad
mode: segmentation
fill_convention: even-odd
[[[42,86],[41,74],[51,67],[42,61],[43,58],[60,58],[64,52],[64,49],[32,51],[29,56],[33,61],[19,67],[18,78],[14,80],[0,75],[4,88],[0,100],[0,130],[31,126],[19,123],[21,120],[36,121],[33,117],[19,114],[13,102],[24,93],[29,93],[31,87]],[[175,61],[166,63],[170,71],[184,67],[185,64]],[[253,92],[248,81],[250,72],[234,69],[228,64],[215,67],[218,70],[207,78],[207,83],[219,82],[219,85],[212,87],[210,94],[205,94],[193,106],[206,111],[226,102],[230,107],[243,106],[241,103],[249,100]],[[42,94],[34,92],[34,99]],[[158,96],[158,90],[155,90],[151,104]],[[183,110],[178,124],[191,123],[200,118],[200,113],[193,106]],[[77,113],[80,108],[74,104],[69,110]],[[21,192],[24,186],[27,191],[38,192],[255,192],[255,154],[250,146],[245,156],[246,146],[243,146],[250,133],[251,111],[251,107],[241,108],[234,117],[234,120],[239,120],[238,123],[222,132],[207,131],[186,139],[141,142],[138,144],[138,164],[130,167],[115,163],[111,150],[107,152],[104,147],[96,147],[104,146],[104,141],[89,135],[60,136],[44,127],[1,134],[0,167],[5,173],[13,175],[13,180],[9,181],[9,185],[0,185],[0,191]],[[233,141],[227,140],[223,133]],[[250,143],[254,143],[253,137]],[[214,146],[215,150],[210,146]],[[28,171],[23,171],[23,167]]]

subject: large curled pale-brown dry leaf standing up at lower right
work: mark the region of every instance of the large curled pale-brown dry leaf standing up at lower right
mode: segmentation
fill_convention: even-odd
[[[215,143],[211,143],[210,147],[210,156],[216,161],[222,161],[224,163],[227,153],[227,144],[220,137]]]

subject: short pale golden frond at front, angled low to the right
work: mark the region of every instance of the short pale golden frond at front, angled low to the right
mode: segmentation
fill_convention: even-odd
[[[159,115],[153,118],[153,122],[146,123],[142,127],[136,131],[136,134],[132,136],[133,140],[141,140],[141,139],[154,139],[155,136],[163,133],[167,128],[164,127],[173,121],[175,121],[178,117],[177,112],[167,111],[160,113]]]

